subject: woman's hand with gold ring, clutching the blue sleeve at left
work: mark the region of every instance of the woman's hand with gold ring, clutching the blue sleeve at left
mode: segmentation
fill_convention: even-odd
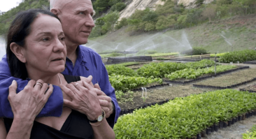
[[[37,82],[40,82],[42,87],[40,84],[36,84]],[[12,81],[12,84],[9,86],[8,100],[14,118],[34,121],[41,112],[52,94],[53,87],[51,84],[48,86],[47,83],[43,83],[42,80],[37,80],[37,82],[30,80],[22,91],[16,93],[17,82],[15,80]]]

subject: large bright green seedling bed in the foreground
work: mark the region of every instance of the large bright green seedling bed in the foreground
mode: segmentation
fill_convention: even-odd
[[[116,139],[194,138],[214,123],[255,109],[255,103],[255,93],[231,89],[175,98],[124,114],[114,132]]]

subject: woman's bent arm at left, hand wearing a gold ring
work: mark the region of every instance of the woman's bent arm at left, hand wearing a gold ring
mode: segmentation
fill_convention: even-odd
[[[37,82],[43,83],[42,80]],[[46,83],[43,83],[43,86],[37,85],[34,80],[30,80],[24,90],[18,94],[16,90],[17,82],[13,80],[9,86],[8,100],[14,119],[7,134],[4,120],[1,118],[0,139],[29,139],[34,120],[52,94],[53,87],[49,85],[48,88]]]

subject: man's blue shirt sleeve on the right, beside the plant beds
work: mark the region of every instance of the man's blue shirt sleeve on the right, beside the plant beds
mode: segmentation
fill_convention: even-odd
[[[111,86],[111,83],[109,82],[109,75],[108,75],[108,72],[103,63],[102,63],[102,74],[101,74],[101,80],[99,83],[99,87],[100,87],[101,91],[103,91],[107,96],[111,97],[112,102],[115,105],[115,120],[114,121],[116,123],[121,109],[116,100],[115,90]]]

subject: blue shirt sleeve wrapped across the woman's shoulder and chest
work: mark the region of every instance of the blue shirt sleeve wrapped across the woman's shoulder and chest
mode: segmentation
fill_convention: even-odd
[[[22,80],[11,76],[6,55],[0,61],[0,117],[13,118],[13,112],[8,101],[9,86],[17,81],[17,93],[22,91],[29,80]],[[61,116],[63,108],[63,94],[60,87],[53,86],[53,92],[37,117]]]

